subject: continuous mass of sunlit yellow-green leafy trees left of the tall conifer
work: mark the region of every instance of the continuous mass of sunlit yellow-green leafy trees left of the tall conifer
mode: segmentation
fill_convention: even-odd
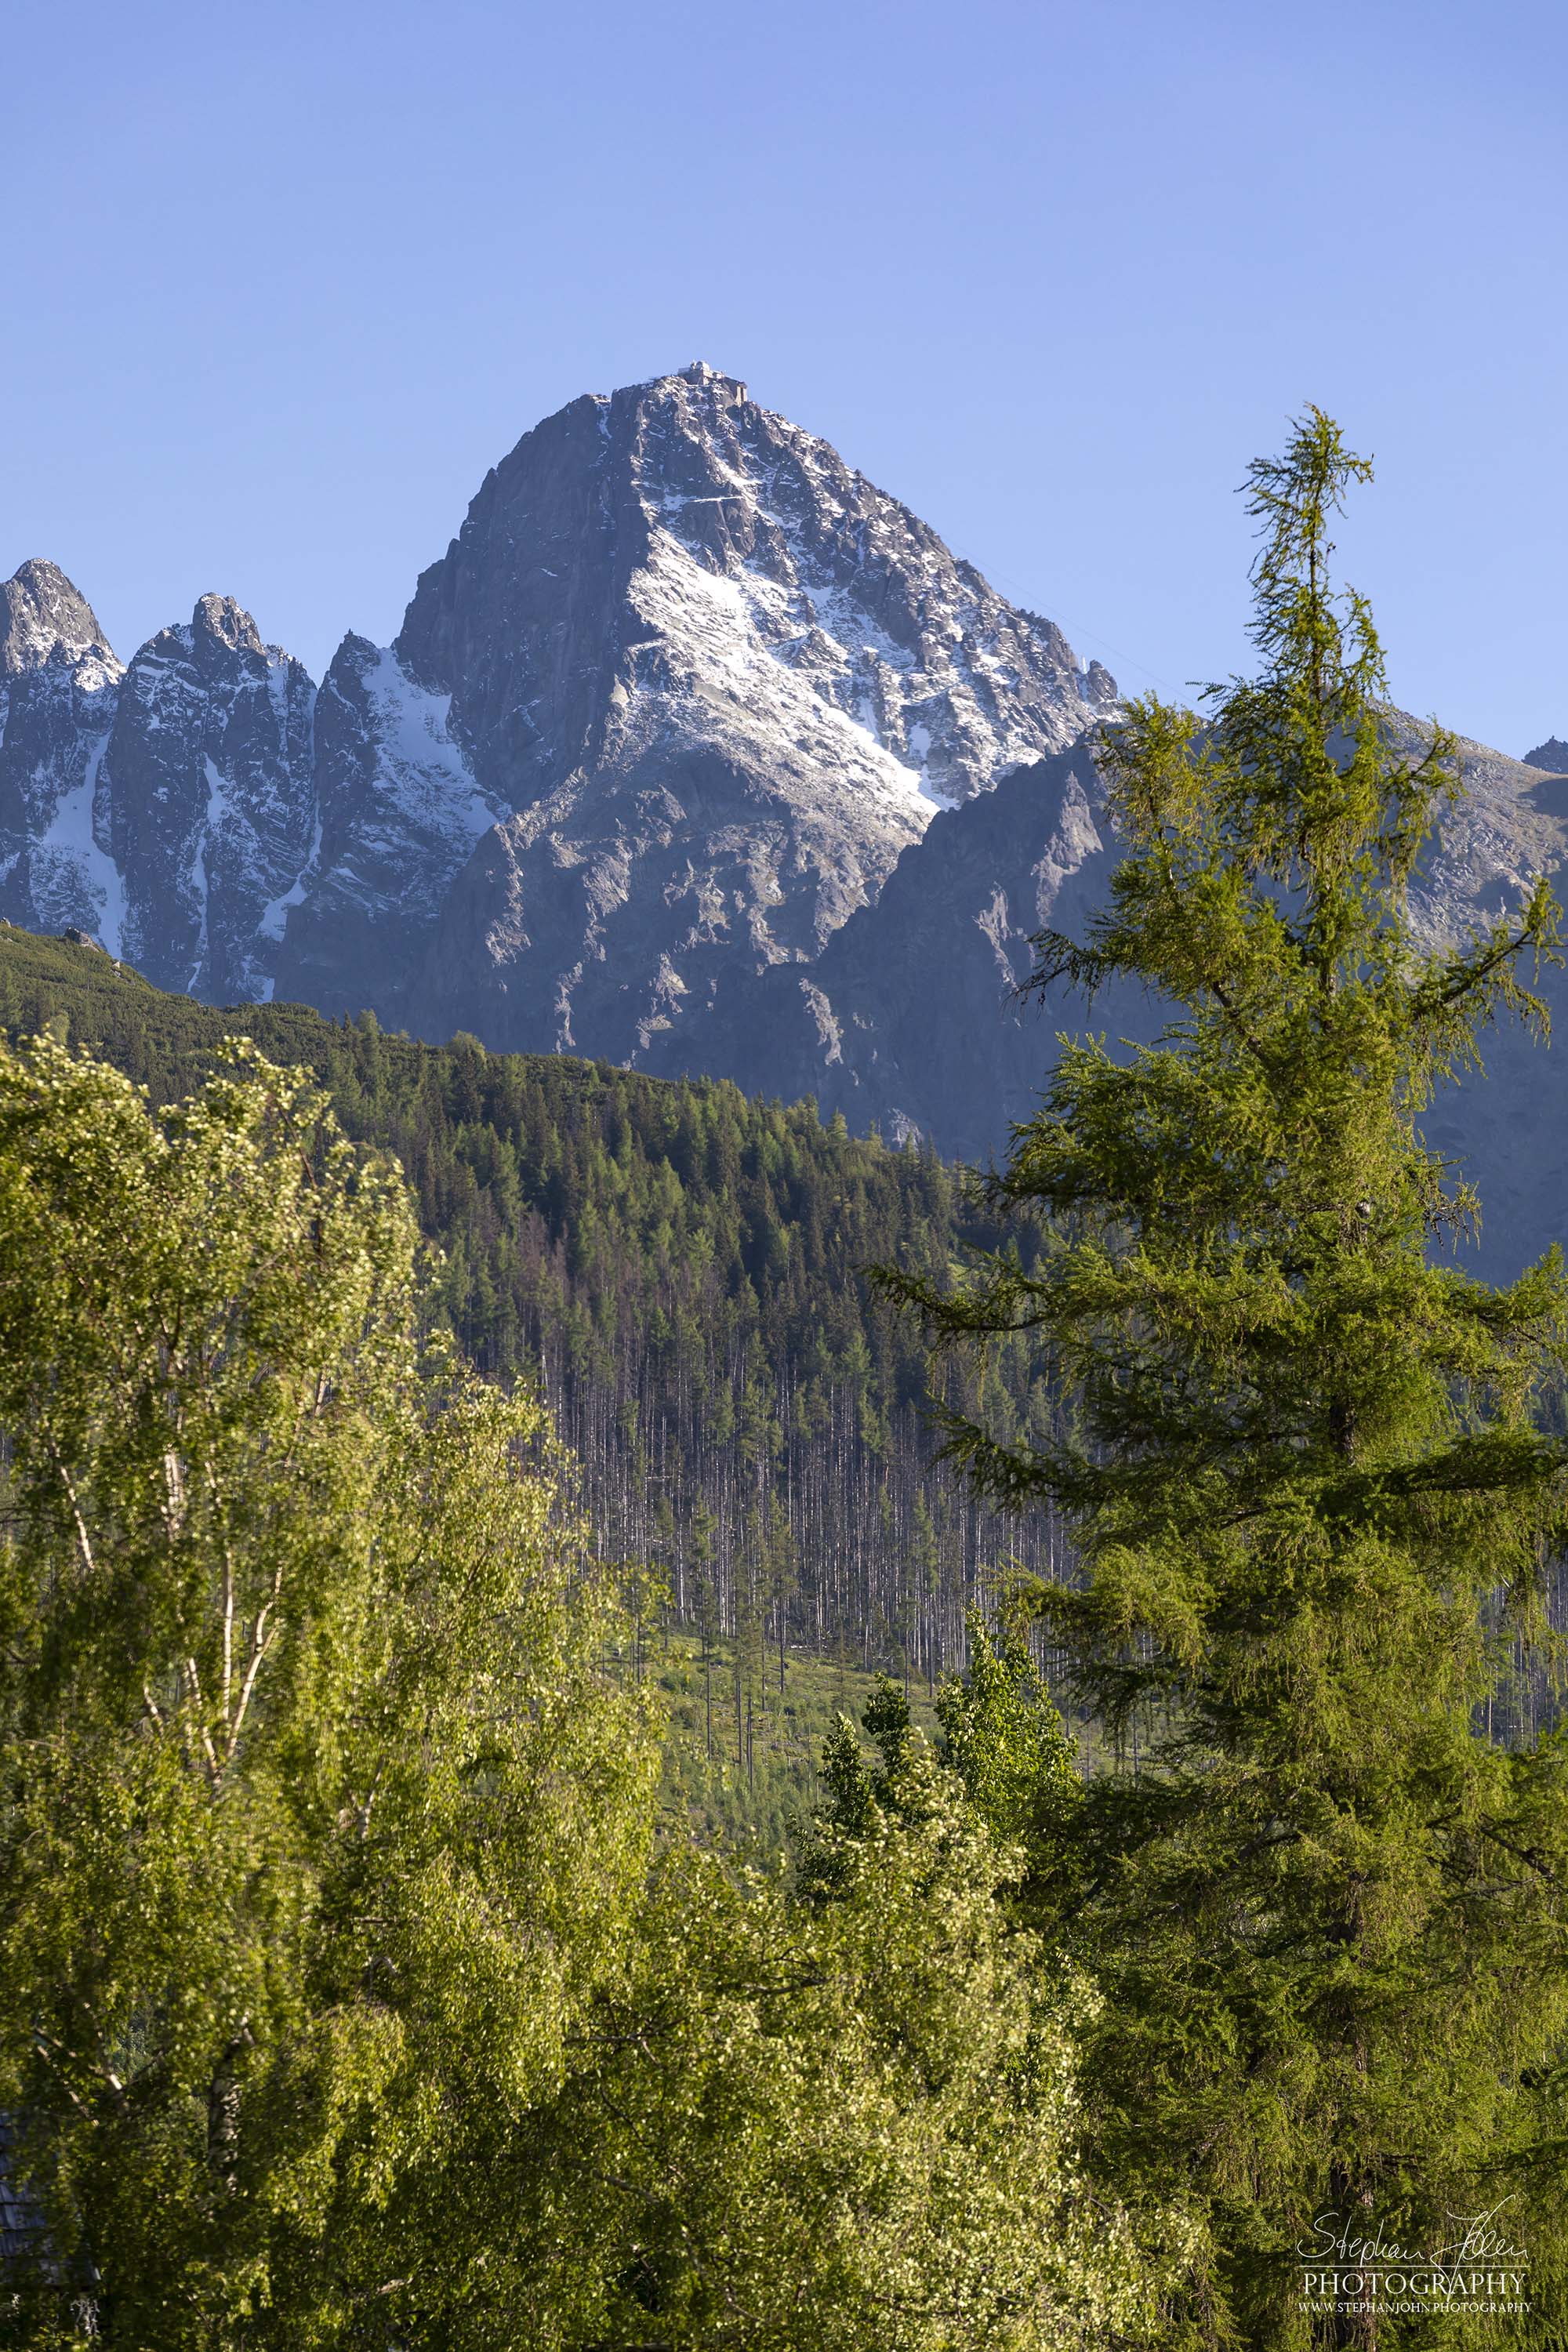
[[[1147,2345],[1011,1849],[903,1731],[795,1882],[656,1839],[618,1571],[416,1296],[306,1075],[0,1047],[0,2343]]]

